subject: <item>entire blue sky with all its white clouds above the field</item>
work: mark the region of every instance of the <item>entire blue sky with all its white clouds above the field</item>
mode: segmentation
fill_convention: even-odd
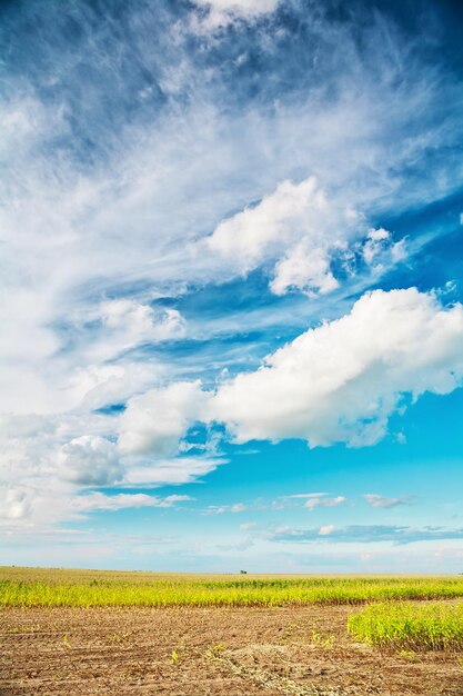
[[[2,563],[462,571],[460,3],[0,13]]]

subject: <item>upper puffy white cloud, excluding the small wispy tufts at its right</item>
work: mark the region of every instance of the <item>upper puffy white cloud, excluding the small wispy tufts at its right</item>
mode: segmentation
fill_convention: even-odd
[[[201,245],[241,274],[272,262],[275,295],[290,289],[323,295],[339,285],[332,256],[345,251],[362,227],[361,216],[330,202],[316,178],[309,177],[282,181],[254,207],[222,220]]]

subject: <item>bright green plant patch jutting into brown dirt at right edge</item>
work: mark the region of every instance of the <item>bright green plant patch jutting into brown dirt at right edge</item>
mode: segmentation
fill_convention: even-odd
[[[349,630],[361,640],[404,650],[463,648],[463,604],[391,604],[350,616]]]

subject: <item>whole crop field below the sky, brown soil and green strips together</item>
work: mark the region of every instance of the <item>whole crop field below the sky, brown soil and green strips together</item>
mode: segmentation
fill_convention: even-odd
[[[0,568],[0,694],[462,696],[463,577]]]

